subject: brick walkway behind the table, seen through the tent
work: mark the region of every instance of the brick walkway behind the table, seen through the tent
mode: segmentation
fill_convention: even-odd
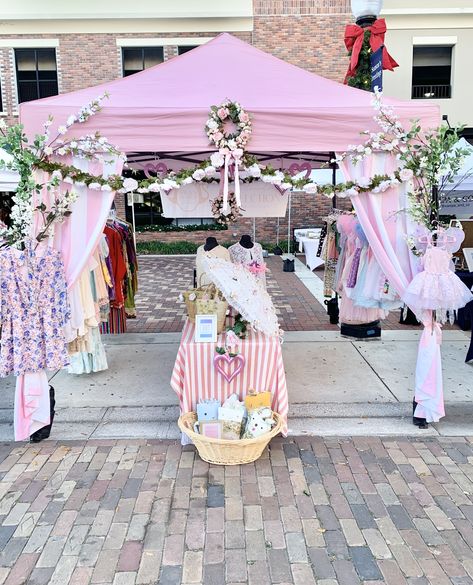
[[[300,257],[303,260],[303,257]],[[294,273],[283,272],[278,257],[267,259],[268,292],[271,294],[279,322],[285,331],[336,331],[330,325],[325,308],[317,302]],[[186,308],[179,293],[192,284],[193,257],[140,257],[137,319],[128,320],[130,333],[180,332]],[[320,273],[321,274],[321,273]],[[399,325],[399,311],[383,322],[384,329],[405,329]],[[408,327],[411,329],[411,327]]]

